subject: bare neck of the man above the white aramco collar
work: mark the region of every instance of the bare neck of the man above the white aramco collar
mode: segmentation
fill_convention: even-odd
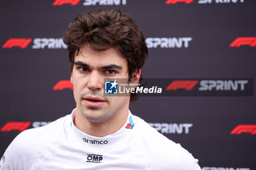
[[[104,137],[110,134],[114,134],[118,131],[124,123],[127,121],[129,114],[129,106],[120,110],[119,112],[114,113],[113,117],[110,117],[104,122],[95,123],[91,122],[83,117],[80,112],[80,109],[77,107],[75,110],[75,126],[86,134],[97,137]]]

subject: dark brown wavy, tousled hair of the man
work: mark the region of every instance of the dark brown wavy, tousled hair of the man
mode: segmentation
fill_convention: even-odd
[[[129,80],[142,68],[148,55],[142,32],[134,20],[119,9],[97,9],[78,15],[69,23],[63,40],[68,46],[71,72],[75,56],[86,44],[97,51],[114,47],[127,60]]]

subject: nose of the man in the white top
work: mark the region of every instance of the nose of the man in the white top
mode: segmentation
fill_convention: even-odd
[[[87,85],[90,90],[102,90],[103,77],[97,71],[92,71],[88,78]]]

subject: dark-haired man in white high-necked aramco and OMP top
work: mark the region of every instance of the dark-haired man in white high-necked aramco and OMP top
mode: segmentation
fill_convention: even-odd
[[[78,15],[64,34],[76,108],[20,133],[1,159],[5,170],[199,170],[192,155],[129,112],[133,96],[106,96],[104,80],[140,79],[143,34],[118,9]]]

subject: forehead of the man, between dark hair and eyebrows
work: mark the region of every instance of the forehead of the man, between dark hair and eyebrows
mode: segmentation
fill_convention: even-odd
[[[127,66],[127,61],[113,47],[105,51],[92,50],[88,45],[80,47],[80,52],[75,56],[75,62],[82,61],[92,66],[102,66],[116,63]]]

